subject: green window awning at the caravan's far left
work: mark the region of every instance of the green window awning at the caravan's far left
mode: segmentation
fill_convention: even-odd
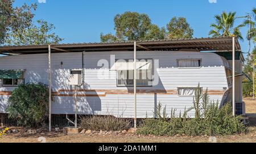
[[[20,79],[24,70],[0,70],[0,79]]]

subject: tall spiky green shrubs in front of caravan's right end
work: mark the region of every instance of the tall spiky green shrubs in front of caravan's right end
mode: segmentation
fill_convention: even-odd
[[[208,93],[202,93],[200,86],[196,89],[194,106],[185,109],[183,115],[176,116],[175,110],[171,110],[170,117],[167,117],[166,109],[161,111],[161,104],[157,108],[157,118],[144,119],[138,134],[143,135],[232,135],[247,131],[242,123],[240,115],[234,117],[230,103],[218,108],[218,103],[209,101]],[[202,100],[201,103],[199,103]],[[187,113],[195,110],[195,118],[188,118]]]

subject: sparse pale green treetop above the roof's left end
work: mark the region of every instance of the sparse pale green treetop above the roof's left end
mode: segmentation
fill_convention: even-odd
[[[36,26],[31,24],[27,28],[12,31],[6,38],[7,45],[47,45],[59,44],[63,38],[60,38],[52,32],[55,27],[53,24],[48,24],[44,20],[38,20]]]

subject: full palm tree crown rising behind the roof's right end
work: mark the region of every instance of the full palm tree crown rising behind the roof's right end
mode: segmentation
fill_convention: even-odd
[[[215,15],[216,24],[210,24],[213,29],[209,32],[209,35],[213,37],[220,36],[237,36],[240,40],[243,40],[240,28],[245,26],[245,24],[239,24],[234,27],[234,22],[236,20],[236,12],[229,12],[228,14],[224,11],[221,15]]]

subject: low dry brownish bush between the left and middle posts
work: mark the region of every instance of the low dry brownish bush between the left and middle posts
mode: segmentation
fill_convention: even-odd
[[[131,120],[115,118],[112,115],[92,115],[81,119],[81,127],[85,130],[126,130],[131,127]]]

